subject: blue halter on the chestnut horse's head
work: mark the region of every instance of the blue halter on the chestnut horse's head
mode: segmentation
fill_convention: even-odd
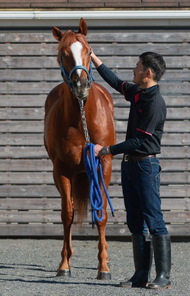
[[[64,76],[66,77],[67,84],[68,84],[68,86],[69,86],[69,88],[70,88],[70,90],[72,92],[74,92],[74,89],[71,86],[71,78],[72,78],[72,74],[77,69],[83,69],[83,70],[85,70],[85,72],[86,72],[86,74],[88,76],[88,80],[90,82],[90,86],[92,84],[92,80],[95,81],[94,78],[93,78],[93,76],[92,76],[92,60],[91,59],[90,59],[90,74],[89,74],[89,71],[87,70],[87,68],[85,68],[84,66],[81,65],[81,66],[75,66],[74,68],[72,68],[72,70],[71,70],[71,72],[70,72],[70,74],[68,76],[68,74],[67,74],[67,72],[65,70],[64,64],[63,64],[63,56],[61,54],[60,54],[60,63],[61,63],[61,76],[63,77],[63,80],[64,80]],[[64,80],[64,82],[65,82],[65,80]]]

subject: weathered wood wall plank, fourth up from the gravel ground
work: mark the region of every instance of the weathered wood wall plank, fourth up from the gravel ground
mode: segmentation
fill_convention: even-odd
[[[123,197],[120,185],[110,185],[108,190],[110,197]],[[161,197],[184,198],[190,197],[190,186],[188,185],[161,185]],[[59,197],[60,193],[55,185],[0,185],[0,197]],[[176,209],[176,208],[175,208]],[[183,208],[181,208],[183,209]],[[187,208],[188,209],[188,208]]]

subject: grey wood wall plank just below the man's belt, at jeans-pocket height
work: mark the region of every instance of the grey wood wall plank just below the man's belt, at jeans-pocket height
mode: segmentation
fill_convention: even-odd
[[[190,171],[190,159],[160,159],[162,171]],[[50,159],[0,159],[0,171],[52,171]],[[112,171],[121,171],[121,160],[112,160]]]

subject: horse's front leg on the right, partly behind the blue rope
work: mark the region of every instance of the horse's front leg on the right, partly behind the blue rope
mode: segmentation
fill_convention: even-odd
[[[111,157],[107,156],[106,158],[103,158],[102,160],[102,172],[104,177],[105,186],[108,189],[110,179],[111,179],[111,171],[112,171],[112,163],[111,163]],[[107,198],[103,190],[103,186],[101,184],[101,191],[103,192],[103,198],[104,198],[104,205],[103,205],[103,211],[104,211],[104,217],[101,222],[96,221],[98,234],[99,234],[99,242],[98,242],[98,274],[97,279],[98,280],[108,280],[111,279],[111,273],[108,268],[108,244],[105,239],[105,226],[107,223]]]

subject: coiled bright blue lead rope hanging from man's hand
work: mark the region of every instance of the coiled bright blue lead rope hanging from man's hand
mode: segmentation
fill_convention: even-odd
[[[87,172],[89,180],[90,180],[90,203],[91,203],[91,212],[92,212],[92,228],[95,227],[95,219],[98,222],[101,222],[103,219],[103,216],[104,216],[104,212],[103,212],[104,200],[103,200],[103,195],[101,193],[100,185],[98,183],[98,175],[97,175],[97,167],[98,166],[99,166],[99,170],[100,170],[101,182],[102,182],[109,206],[111,208],[112,216],[113,217],[115,216],[114,208],[113,208],[111,200],[109,198],[108,191],[105,187],[100,158],[95,157],[94,147],[95,147],[94,144],[89,144],[89,143],[87,143],[87,145],[85,147],[85,167],[86,167],[86,172]],[[90,153],[91,162],[90,162],[89,156],[87,154],[88,150]],[[101,212],[100,218],[98,218],[97,211]]]

